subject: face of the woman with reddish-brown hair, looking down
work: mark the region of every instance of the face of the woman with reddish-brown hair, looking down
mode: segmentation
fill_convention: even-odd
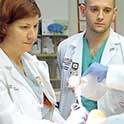
[[[7,28],[5,42],[13,46],[13,49],[23,53],[29,52],[37,38],[38,16],[19,19]]]

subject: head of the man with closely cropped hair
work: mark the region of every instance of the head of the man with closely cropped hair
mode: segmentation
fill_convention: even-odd
[[[116,8],[113,0],[87,0],[83,14],[86,16],[87,30],[104,33],[116,16]]]

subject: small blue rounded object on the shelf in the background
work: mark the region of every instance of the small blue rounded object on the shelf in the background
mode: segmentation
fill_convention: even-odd
[[[64,26],[59,24],[59,23],[53,23],[48,25],[47,29],[50,32],[54,32],[54,33],[63,33],[64,30]]]

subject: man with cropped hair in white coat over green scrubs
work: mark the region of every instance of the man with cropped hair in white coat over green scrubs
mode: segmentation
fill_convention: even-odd
[[[86,31],[69,37],[58,47],[61,73],[60,111],[65,118],[70,113],[69,106],[76,99],[72,89],[67,87],[71,75],[83,76],[94,62],[103,65],[124,63],[121,52],[124,38],[110,28],[116,17],[115,0],[85,0],[85,5],[81,5],[80,10],[86,17]],[[82,104],[89,111],[97,107],[95,101],[83,96],[81,98]],[[105,101],[101,101],[101,104],[102,102]]]

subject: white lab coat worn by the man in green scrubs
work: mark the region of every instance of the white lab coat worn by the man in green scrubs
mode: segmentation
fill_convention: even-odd
[[[61,73],[61,98],[60,111],[64,115],[68,111],[65,118],[69,115],[69,106],[75,100],[74,93],[71,89],[65,86],[68,78],[72,72],[72,63],[78,63],[77,76],[81,76],[82,66],[82,48],[83,48],[83,33],[76,34],[60,43],[58,47],[58,64]],[[103,65],[118,65],[124,64],[124,37],[110,30],[110,35],[106,43],[105,49],[101,57],[101,64]],[[118,104],[118,95],[124,99],[123,91],[107,90],[105,95],[98,101],[98,108],[107,115],[122,113],[123,108]],[[113,102],[110,99],[113,99]],[[110,108],[111,104],[116,107]]]

